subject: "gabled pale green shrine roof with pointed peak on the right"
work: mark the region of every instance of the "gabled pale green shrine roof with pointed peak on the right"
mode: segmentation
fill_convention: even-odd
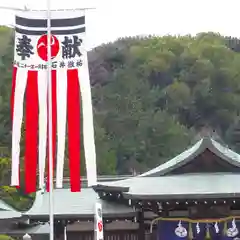
[[[203,154],[208,154],[205,159]],[[207,167],[211,165],[212,170],[210,167],[208,172],[196,167],[191,169],[190,164],[193,165],[196,161],[199,161],[197,166],[200,168],[205,164]],[[216,170],[217,164],[221,165],[220,170]],[[184,152],[150,171],[129,179],[101,182],[94,189],[99,193],[121,191],[126,199],[139,200],[232,198],[240,197],[240,187],[236,184],[239,181],[240,155],[205,136]]]

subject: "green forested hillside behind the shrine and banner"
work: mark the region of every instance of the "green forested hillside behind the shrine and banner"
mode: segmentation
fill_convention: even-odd
[[[240,151],[238,52],[238,39],[215,33],[125,38],[89,52],[99,174],[163,163],[196,141],[203,126]],[[1,185],[9,176],[12,57],[12,32],[0,28]],[[9,196],[21,198],[3,188]]]

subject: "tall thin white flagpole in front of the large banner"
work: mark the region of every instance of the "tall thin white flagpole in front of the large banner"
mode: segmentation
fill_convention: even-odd
[[[49,221],[50,240],[54,240],[53,212],[53,146],[52,146],[52,58],[51,58],[51,0],[47,0],[47,54],[48,54],[48,146],[49,146]]]

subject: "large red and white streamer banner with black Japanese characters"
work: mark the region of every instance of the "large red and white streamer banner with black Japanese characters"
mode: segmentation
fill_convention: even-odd
[[[39,188],[43,188],[48,153],[46,16],[46,11],[22,11],[16,15],[11,98],[13,121],[11,185],[19,185],[20,140],[24,122],[27,193],[36,191],[37,175]],[[56,187],[61,188],[63,184],[67,132],[71,191],[80,191],[81,109],[88,183],[90,186],[96,183],[91,87],[85,48],[85,12],[52,11],[51,34],[52,142]]]

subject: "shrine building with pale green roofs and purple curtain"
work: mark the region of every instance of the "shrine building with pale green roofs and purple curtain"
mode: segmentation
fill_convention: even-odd
[[[66,227],[70,240],[93,240],[97,198],[107,240],[238,239],[239,183],[240,155],[206,136],[141,175],[102,177],[80,193],[55,189],[56,239],[63,238]],[[49,193],[37,192],[21,221],[21,230],[32,238],[47,239]],[[9,234],[17,230],[9,228]]]

